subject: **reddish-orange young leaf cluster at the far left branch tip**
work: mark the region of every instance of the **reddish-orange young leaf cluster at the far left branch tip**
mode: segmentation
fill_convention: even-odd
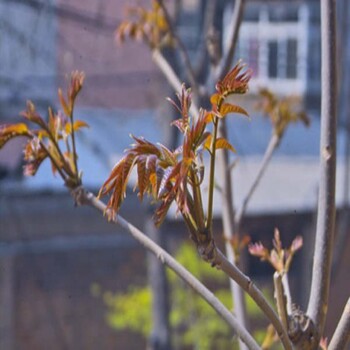
[[[58,172],[68,187],[73,188],[80,184],[74,134],[88,125],[84,121],[74,120],[73,110],[83,82],[83,73],[75,71],[71,74],[67,96],[63,96],[61,89],[58,91],[63,111],[55,113],[49,108],[47,121],[40,116],[34,104],[28,101],[26,110],[21,113],[26,123],[0,127],[0,148],[16,137],[28,139],[24,147],[25,175],[35,175],[42,162],[49,158],[52,172]],[[34,128],[29,124],[34,124]],[[64,151],[61,150],[61,142],[65,144]]]

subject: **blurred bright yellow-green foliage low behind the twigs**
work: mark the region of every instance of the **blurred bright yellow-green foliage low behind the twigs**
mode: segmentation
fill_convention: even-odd
[[[232,309],[231,292],[227,277],[212,268],[197,256],[192,245],[184,243],[178,249],[176,259],[194,276],[215,290],[215,295],[221,302]],[[183,347],[196,350],[236,349],[237,338],[228,325],[216,312],[200,298],[188,285],[167,270],[170,283],[170,324],[175,349]],[[95,295],[98,288],[94,286]],[[146,287],[131,287],[126,293],[103,293],[103,299],[108,306],[107,322],[119,331],[131,330],[148,337],[152,329],[152,293]],[[246,297],[247,311],[250,318],[259,320],[263,314],[254,301]],[[254,336],[262,343],[266,329],[258,330]]]

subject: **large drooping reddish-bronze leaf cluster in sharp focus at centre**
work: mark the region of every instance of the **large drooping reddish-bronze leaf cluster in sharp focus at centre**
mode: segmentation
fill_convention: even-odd
[[[203,232],[209,226],[201,195],[205,171],[203,153],[207,151],[211,158],[215,158],[217,149],[225,148],[235,152],[225,138],[217,137],[216,129],[218,121],[229,113],[247,115],[243,108],[225,101],[228,95],[247,90],[250,75],[242,73],[243,68],[238,63],[218,83],[217,93],[211,97],[212,109],[201,109],[197,118],[190,114],[191,89],[185,85],[177,96],[177,102],[169,100],[180,115],[172,123],[182,135],[182,144],[177,149],[170,150],[160,143],[154,144],[143,137],[132,136],[135,143],[114,166],[99,193],[100,197],[110,195],[107,204],[107,215],[110,219],[119,211],[126,196],[130,175],[136,169],[135,188],[139,190],[140,200],[149,195],[160,203],[155,212],[156,225],[163,222],[170,206],[176,203],[193,235],[198,231]],[[210,131],[210,127],[214,130]]]

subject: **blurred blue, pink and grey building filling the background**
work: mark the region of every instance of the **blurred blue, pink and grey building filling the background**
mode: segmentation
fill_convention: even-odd
[[[183,1],[185,11],[178,22],[194,62],[201,59],[196,52],[203,45],[207,1]],[[170,90],[147,47],[134,42],[115,45],[114,30],[124,16],[126,3],[0,2],[0,122],[17,120],[27,99],[33,100],[43,115],[48,105],[58,108],[57,88],[66,85],[72,70],[83,70],[86,83],[76,117],[87,120],[91,128],[78,138],[79,166],[85,185],[95,192],[129,145],[129,133],[164,142],[170,122],[166,109],[159,107]],[[221,3],[218,16],[223,18],[225,41],[233,1]],[[300,96],[312,119],[308,129],[297,125],[287,131],[252,198],[243,226],[253,240],[268,243],[274,227],[279,227],[286,243],[304,234],[309,244],[317,203],[319,21],[316,0],[247,1],[235,61],[242,58],[254,71],[253,97],[238,101],[252,117],[250,122],[239,117],[229,120],[230,140],[240,157],[233,173],[237,203],[244,198],[271,136],[269,121],[253,108],[258,88]],[[339,207],[348,198],[343,185],[347,173],[345,143],[346,133],[340,130]],[[130,284],[145,283],[144,250],[127,234],[94,215],[92,209],[74,209],[48,164],[35,178],[23,178],[21,147],[20,141],[14,141],[0,152],[0,310],[4,310],[0,313],[0,348],[40,350],[47,349],[48,344],[53,350],[144,346],[141,338],[111,330],[103,300],[91,293],[93,284],[104,290],[125,291]],[[215,200],[219,218],[219,193]],[[140,213],[136,218],[135,208]],[[123,211],[133,223],[143,226],[144,210],[135,196],[129,197]],[[173,237],[172,232],[177,230],[183,231],[183,226],[171,213],[164,231]],[[292,280],[301,283],[301,275],[304,282],[308,279],[298,269],[310,266],[310,259],[308,251],[300,255]],[[255,260],[249,260],[247,268],[256,278],[271,276],[271,271]],[[344,274],[349,276],[348,271],[338,272],[334,286],[340,279],[349,280],[344,278]],[[337,296],[331,319],[338,317],[346,290],[349,288]],[[307,302],[300,290],[294,292],[296,300]]]

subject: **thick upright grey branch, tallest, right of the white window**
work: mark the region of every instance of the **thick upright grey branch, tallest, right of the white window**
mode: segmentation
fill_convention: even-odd
[[[336,173],[336,10],[334,0],[321,1],[321,141],[317,229],[308,315],[320,337],[328,309],[335,223]]]

